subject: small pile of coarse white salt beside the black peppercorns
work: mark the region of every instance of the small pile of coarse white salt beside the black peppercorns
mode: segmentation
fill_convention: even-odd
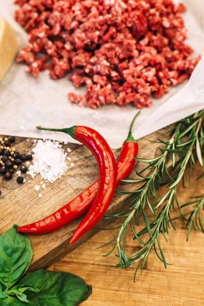
[[[68,165],[66,159],[70,160],[67,153],[62,149],[59,141],[53,140],[35,140],[32,164],[29,166],[27,174],[32,178],[37,174],[41,179],[53,183],[67,171]],[[69,149],[67,149],[70,152]],[[43,184],[45,189],[45,186]]]

